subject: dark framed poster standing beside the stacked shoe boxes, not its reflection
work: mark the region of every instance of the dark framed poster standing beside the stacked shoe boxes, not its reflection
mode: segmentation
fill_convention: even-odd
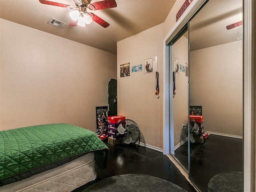
[[[96,107],[97,132],[106,131],[108,127],[108,106]]]

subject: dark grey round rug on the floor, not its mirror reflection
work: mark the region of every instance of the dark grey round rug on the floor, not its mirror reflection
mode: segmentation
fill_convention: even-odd
[[[83,192],[186,192],[172,182],[144,174],[117,175],[101,180]]]

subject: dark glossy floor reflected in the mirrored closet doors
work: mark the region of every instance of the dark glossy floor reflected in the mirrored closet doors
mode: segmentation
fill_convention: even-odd
[[[210,135],[204,144],[190,145],[190,180],[207,192],[210,179],[222,172],[243,171],[243,140]],[[175,158],[188,170],[188,143],[175,150]]]

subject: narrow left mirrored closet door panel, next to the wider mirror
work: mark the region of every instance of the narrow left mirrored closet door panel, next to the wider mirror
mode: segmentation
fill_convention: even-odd
[[[188,32],[185,32],[173,45],[173,72],[175,75],[175,95],[173,98],[174,111],[174,157],[188,172],[188,135],[186,123],[188,121]]]

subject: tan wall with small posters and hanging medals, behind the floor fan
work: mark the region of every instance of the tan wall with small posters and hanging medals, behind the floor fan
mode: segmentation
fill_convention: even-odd
[[[118,115],[134,120],[145,137],[146,144],[162,148],[162,84],[163,84],[163,24],[121,40],[117,44]],[[160,98],[157,99],[156,74],[144,74],[144,59],[158,56]],[[130,68],[142,64],[143,71],[130,71],[120,78],[120,65],[130,62]]]

